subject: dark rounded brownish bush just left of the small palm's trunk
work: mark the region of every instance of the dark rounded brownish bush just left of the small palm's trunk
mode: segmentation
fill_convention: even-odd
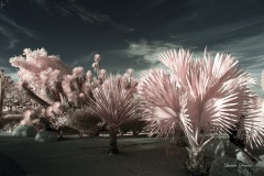
[[[95,136],[99,132],[97,124],[101,121],[91,113],[90,108],[81,108],[68,112],[68,125],[78,130],[80,134]]]

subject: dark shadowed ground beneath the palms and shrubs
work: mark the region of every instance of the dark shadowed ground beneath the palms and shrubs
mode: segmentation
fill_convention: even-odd
[[[119,138],[119,155],[107,155],[108,144],[109,139],[102,136],[65,136],[63,141],[38,143],[1,133],[0,170],[9,172],[7,176],[187,176],[186,148],[175,146],[169,139]],[[209,163],[212,153],[207,152]],[[253,154],[264,154],[264,147]],[[262,170],[256,175],[263,175]]]

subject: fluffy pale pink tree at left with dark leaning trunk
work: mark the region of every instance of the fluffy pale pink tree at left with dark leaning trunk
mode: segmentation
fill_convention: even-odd
[[[28,95],[44,107],[59,101],[62,79],[70,75],[72,69],[63,64],[57,56],[48,56],[44,48],[24,50],[23,55],[10,58],[13,67],[19,68],[19,87],[26,90]]]

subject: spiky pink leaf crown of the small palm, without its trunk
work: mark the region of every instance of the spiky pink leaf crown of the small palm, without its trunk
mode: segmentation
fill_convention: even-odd
[[[92,111],[112,127],[119,127],[129,120],[138,106],[133,94],[135,87],[127,90],[119,86],[122,84],[122,79],[110,75],[101,86],[92,90],[95,98]]]

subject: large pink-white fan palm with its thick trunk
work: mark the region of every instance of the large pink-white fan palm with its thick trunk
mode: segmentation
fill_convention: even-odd
[[[191,58],[189,51],[179,50],[162,54],[158,59],[169,72],[152,69],[143,75],[139,85],[141,109],[153,125],[152,133],[168,135],[182,128],[187,136],[186,168],[193,175],[205,175],[207,163],[205,145],[244,119],[248,143],[263,145],[263,117],[249,114],[254,94],[248,88],[248,74],[239,68],[230,55],[217,54],[212,59]],[[202,133],[201,133],[202,131]],[[241,135],[239,135],[242,138]]]

